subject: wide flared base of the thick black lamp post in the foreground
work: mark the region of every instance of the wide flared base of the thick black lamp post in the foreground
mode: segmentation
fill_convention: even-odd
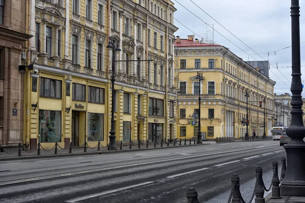
[[[287,171],[281,183],[281,196],[305,194],[305,143],[284,146],[287,154]]]

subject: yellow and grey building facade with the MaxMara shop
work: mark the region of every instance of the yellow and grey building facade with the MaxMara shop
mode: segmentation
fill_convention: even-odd
[[[23,142],[31,149],[107,145],[112,96],[117,142],[174,139],[175,11],[169,0],[32,1]],[[121,49],[115,95],[109,37]]]

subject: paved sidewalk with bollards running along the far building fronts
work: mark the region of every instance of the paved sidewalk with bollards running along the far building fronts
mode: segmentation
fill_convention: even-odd
[[[97,155],[97,154],[110,154],[110,153],[120,153],[120,152],[132,152],[132,151],[142,151],[142,150],[154,150],[154,149],[160,149],[160,148],[176,148],[176,147],[191,147],[191,146],[198,146],[198,145],[208,145],[215,142],[208,142],[204,141],[203,144],[195,144],[192,142],[190,145],[189,142],[184,144],[184,142],[181,143],[181,146],[179,146],[179,142],[176,143],[174,146],[173,143],[169,143],[169,147],[167,147],[167,144],[163,144],[163,147],[161,147],[161,144],[159,143],[154,147],[154,144],[148,145],[148,148],[146,148],[145,145],[141,145],[140,149],[138,145],[131,146],[132,149],[130,149],[129,145],[126,145],[122,147],[122,149],[119,149],[119,146],[117,146],[117,150],[111,150],[108,151],[107,147],[101,147],[100,151],[98,151],[98,148],[89,148],[87,147],[86,152],[84,152],[84,147],[82,148],[72,148],[72,153],[69,153],[68,149],[60,149],[58,147],[57,154],[55,154],[55,149],[52,149],[50,151],[45,151],[41,149],[41,155],[37,155],[38,151],[30,151],[26,150],[24,151],[22,149],[21,156],[18,156],[18,147],[14,148],[4,148],[5,152],[0,152],[0,161],[5,160],[20,160],[20,159],[34,159],[34,158],[50,158],[50,157],[67,157],[67,156],[84,156],[84,155]]]

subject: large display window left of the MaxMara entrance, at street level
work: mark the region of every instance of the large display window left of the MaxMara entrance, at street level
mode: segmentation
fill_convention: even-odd
[[[62,112],[39,110],[39,142],[62,142]]]

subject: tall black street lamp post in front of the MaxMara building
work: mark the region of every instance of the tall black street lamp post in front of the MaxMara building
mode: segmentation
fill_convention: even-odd
[[[110,129],[110,148],[111,150],[116,150],[116,144],[115,144],[115,128],[114,128],[114,108],[115,108],[115,101],[114,101],[114,82],[115,82],[115,54],[116,52],[120,52],[120,48],[118,47],[118,42],[112,41],[111,37],[109,37],[109,44],[107,45],[107,48],[109,50],[112,50],[112,63],[111,63],[111,70],[112,70],[112,75],[111,75],[111,129]]]

